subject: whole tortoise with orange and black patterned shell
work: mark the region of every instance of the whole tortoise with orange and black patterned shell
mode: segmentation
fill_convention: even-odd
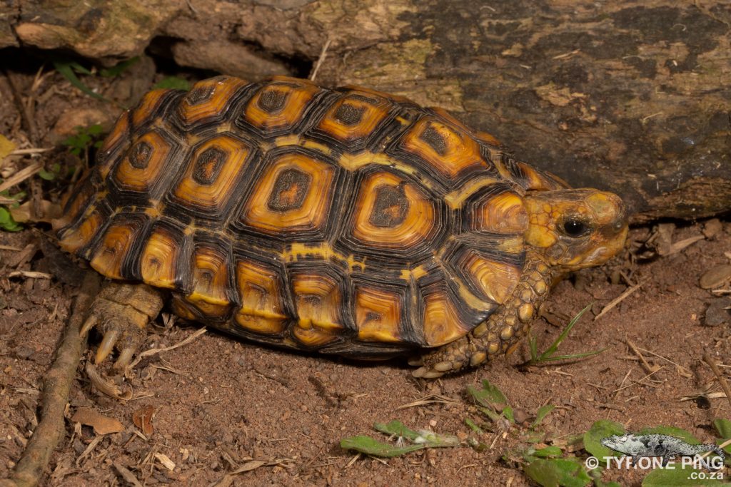
[[[489,361],[551,285],[624,246],[572,189],[438,108],[368,88],[213,77],[124,112],[53,222],[109,278],[82,333],[126,367],[164,303],[237,337],[417,377]]]

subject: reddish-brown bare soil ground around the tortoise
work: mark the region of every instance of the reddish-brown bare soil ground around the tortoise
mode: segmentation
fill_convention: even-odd
[[[34,91],[34,143],[39,146],[49,147],[61,138],[64,124],[67,130],[75,123],[63,121],[64,117],[71,118],[82,108],[102,115],[115,112],[101,101],[80,95],[58,73],[45,73],[37,78]],[[21,85],[29,86],[35,72],[26,69],[16,75]],[[114,88],[110,80],[94,78],[88,83],[105,94],[124,92],[131,97],[140,91],[135,76],[135,72],[124,74]],[[162,76],[148,74],[150,80]],[[32,147],[9,89],[7,83],[0,83],[0,134],[19,141],[21,148]],[[37,160],[50,165],[61,157],[55,152]],[[29,160],[18,159],[14,164],[23,166]],[[43,183],[42,191],[44,198],[55,201],[61,188],[54,182]],[[42,250],[47,232],[44,223],[17,233],[0,232],[0,245],[7,249],[0,250],[0,478],[18,461],[37,424],[39,389],[80,282],[76,264]],[[514,407],[528,413],[543,404],[556,405],[544,421],[549,438],[583,433],[594,421],[610,419],[633,431],[677,426],[711,441],[713,419],[731,418],[729,402],[723,397],[697,401],[681,401],[681,397],[719,391],[718,382],[701,361],[705,352],[723,364],[721,371],[730,376],[729,314],[725,310],[716,314],[722,323],[725,320],[719,326],[705,323],[709,304],[721,298],[700,288],[699,279],[708,269],[729,264],[731,223],[678,223],[672,242],[700,239],[665,256],[653,256],[643,245],[653,232],[651,227],[632,229],[629,250],[623,256],[559,283],[545,318],[534,324],[538,348],[545,350],[565,323],[591,303],[590,312],[559,351],[607,350],[580,361],[523,370],[517,367],[528,353],[522,346],[506,360],[463,375],[414,380],[405,360],[364,364],[306,356],[208,331],[189,345],[141,361],[124,384],[135,394],[126,402],[94,390],[82,364],[69,398],[69,418],[77,408],[88,407],[120,421],[124,432],[97,437],[88,426],[75,431],[74,423],[67,420],[67,437],[53,454],[42,484],[127,485],[118,468],[123,467],[146,486],[211,485],[257,459],[265,464],[228,479],[232,485],[531,485],[520,465],[503,459],[511,449],[526,446],[514,432],[485,433],[478,440],[490,448],[482,452],[443,448],[387,460],[355,458],[339,446],[343,437],[378,437],[373,423],[392,419],[413,429],[474,436],[464,420],[479,415],[465,390],[484,378],[498,386]],[[38,250],[24,251],[28,245]],[[17,270],[53,277],[9,277]],[[635,292],[594,320],[603,307],[637,283]],[[159,318],[148,346],[174,345],[197,329],[184,323],[169,326]],[[660,369],[648,377],[629,342]],[[99,337],[92,336],[91,350],[98,344]],[[404,407],[433,395],[453,402]],[[145,407],[154,410],[154,431],[141,434],[133,415]],[[90,445],[91,450],[85,451]],[[166,457],[173,469],[164,467]],[[615,471],[605,478],[631,485],[642,476],[642,472]]]

